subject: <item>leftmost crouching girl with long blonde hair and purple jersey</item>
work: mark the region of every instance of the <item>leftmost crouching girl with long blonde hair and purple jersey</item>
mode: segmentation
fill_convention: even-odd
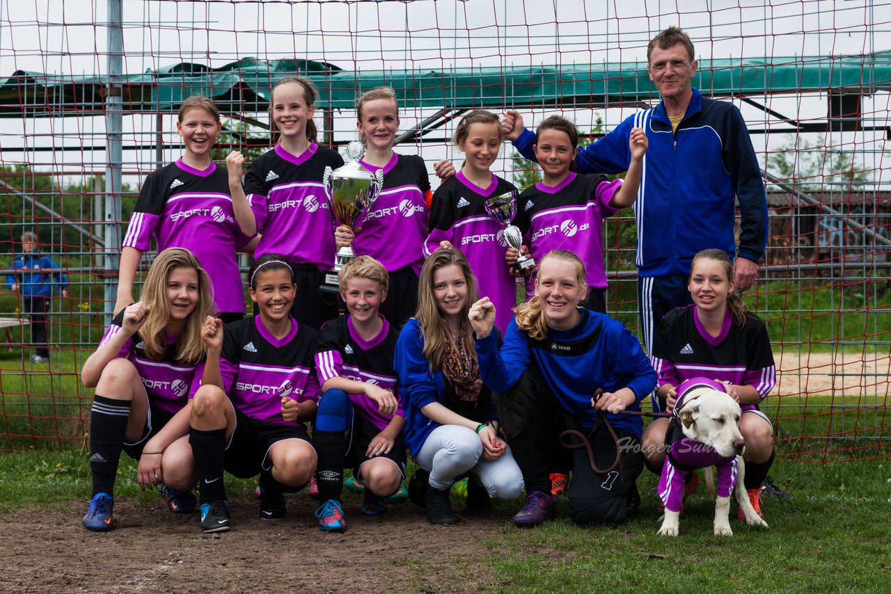
[[[143,489],[159,487],[171,511],[195,507],[186,435],[204,361],[201,323],[213,311],[208,273],[192,252],[162,251],[140,300],[115,316],[80,372],[95,387],[90,414],[93,498],[84,527],[110,530],[120,452],[139,460]]]

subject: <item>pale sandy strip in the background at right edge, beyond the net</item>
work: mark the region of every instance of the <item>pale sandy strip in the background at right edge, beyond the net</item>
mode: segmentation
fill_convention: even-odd
[[[785,352],[777,356],[772,395],[888,396],[891,357],[871,354]]]

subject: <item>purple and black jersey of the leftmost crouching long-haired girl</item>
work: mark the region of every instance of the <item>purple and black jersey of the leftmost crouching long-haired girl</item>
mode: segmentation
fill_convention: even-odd
[[[123,330],[124,312],[121,311],[111,321],[108,330],[99,342],[107,343],[111,337]],[[204,361],[193,365],[176,361],[176,337],[168,337],[168,348],[159,360],[150,359],[145,354],[143,338],[136,332],[121,347],[118,356],[132,362],[145,387],[149,401],[159,411],[176,414],[198,391]]]

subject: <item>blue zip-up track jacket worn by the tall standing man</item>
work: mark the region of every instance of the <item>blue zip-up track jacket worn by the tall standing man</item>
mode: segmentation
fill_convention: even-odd
[[[767,199],[740,110],[732,103],[703,97],[694,88],[676,133],[659,102],[579,151],[578,172],[627,171],[633,127],[642,127],[650,142],[634,201],[639,276],[686,275],[693,256],[706,248],[757,262],[767,246]],[[527,159],[535,159],[534,143],[535,134],[526,130],[514,146]],[[738,250],[733,234],[735,198],[741,216]]]

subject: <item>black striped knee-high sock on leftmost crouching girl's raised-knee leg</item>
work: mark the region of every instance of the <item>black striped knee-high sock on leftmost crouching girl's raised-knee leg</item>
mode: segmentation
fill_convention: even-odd
[[[114,494],[114,479],[127,434],[129,400],[114,400],[96,395],[90,413],[90,470],[93,494]]]

